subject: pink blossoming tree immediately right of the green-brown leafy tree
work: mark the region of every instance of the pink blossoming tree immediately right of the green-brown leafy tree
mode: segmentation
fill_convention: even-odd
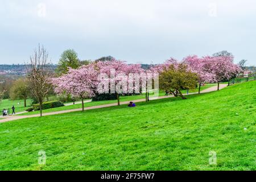
[[[210,62],[206,59],[201,59],[197,57],[196,55],[193,56],[187,56],[183,59],[183,62],[185,64],[188,64],[188,66],[192,69],[193,72],[197,73],[198,77],[198,85],[199,85],[199,91],[200,94],[200,88],[202,84],[205,84],[206,82],[216,82],[216,76],[214,73],[210,70]]]

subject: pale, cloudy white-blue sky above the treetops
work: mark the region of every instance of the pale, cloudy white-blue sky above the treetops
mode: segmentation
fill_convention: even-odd
[[[256,65],[255,0],[0,0],[0,21],[0,64],[24,63],[40,43],[53,63],[68,48],[128,63],[226,49]]]

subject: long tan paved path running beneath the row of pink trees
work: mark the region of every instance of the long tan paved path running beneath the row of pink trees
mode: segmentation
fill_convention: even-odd
[[[228,86],[227,84],[220,84],[220,89],[225,88],[226,86]],[[217,85],[216,86],[212,86],[208,89],[205,89],[203,91],[201,91],[200,93],[207,93],[207,92],[213,92],[217,90]],[[197,93],[189,93],[189,94],[197,94]],[[184,94],[185,96],[185,94]],[[152,97],[150,98],[150,100],[158,100],[158,99],[162,99],[162,98],[170,98],[170,97],[174,97],[173,95],[170,96],[160,96],[160,97]],[[134,100],[133,102],[144,102],[145,98],[143,99],[139,99],[139,100]],[[120,105],[124,105],[124,104],[129,104],[130,101],[125,101],[125,102],[120,102]],[[116,106],[117,103],[112,103],[112,104],[104,104],[104,105],[97,105],[97,106],[90,106],[90,107],[85,107],[84,110],[90,110],[90,109],[98,109],[98,108],[104,108],[104,107],[110,107],[110,106]],[[74,112],[74,111],[81,111],[82,109],[70,109],[70,110],[61,110],[61,111],[55,111],[55,112],[51,112],[51,113],[43,113],[44,115],[53,115],[53,114],[63,114],[63,113],[70,113],[70,112]],[[5,119],[0,119],[0,123],[2,122],[7,122],[7,121],[13,121],[16,119],[23,119],[23,118],[32,118],[32,117],[39,117],[40,114],[33,114],[33,115],[7,115],[5,117]]]

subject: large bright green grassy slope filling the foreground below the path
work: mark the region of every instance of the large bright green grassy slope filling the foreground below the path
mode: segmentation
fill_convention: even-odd
[[[256,81],[187,98],[0,123],[0,169],[255,170]]]

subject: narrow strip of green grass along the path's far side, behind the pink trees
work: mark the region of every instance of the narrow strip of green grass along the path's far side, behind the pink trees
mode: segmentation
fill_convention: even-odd
[[[212,86],[215,86],[216,84],[207,84],[201,87],[201,90],[205,90],[208,89]],[[189,93],[195,93],[198,92],[198,89],[192,89],[189,90]],[[183,90],[183,93],[187,93],[187,90]],[[159,92],[159,96],[164,96],[164,94],[166,94],[163,91]],[[134,101],[134,100],[139,100],[142,98],[145,98],[145,94],[141,94],[141,95],[135,95],[135,96],[120,96],[120,102],[123,101]],[[112,103],[117,103],[117,100],[109,100],[109,101],[93,101],[93,102],[87,102],[84,104],[85,107],[90,107],[90,106],[97,106],[97,105],[104,105],[104,104],[112,104]],[[82,104],[75,104],[75,105],[69,105],[69,106],[63,106],[63,107],[55,107],[55,108],[51,108],[51,109],[46,109],[43,110],[43,113],[49,113],[49,112],[53,112],[53,111],[60,111],[60,110],[69,110],[69,109],[78,109],[78,108],[82,108]],[[19,114],[19,115],[32,115],[32,114],[39,114],[40,111],[32,111],[29,113],[23,113],[23,114]]]

